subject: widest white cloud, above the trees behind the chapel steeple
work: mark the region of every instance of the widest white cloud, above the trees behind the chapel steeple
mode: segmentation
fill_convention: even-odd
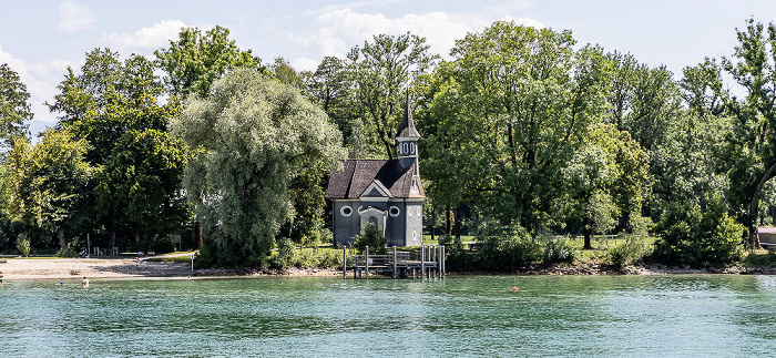
[[[381,13],[358,13],[350,9],[331,10],[318,16],[317,29],[310,35],[289,35],[303,47],[316,48],[320,57],[345,54],[354,45],[363,45],[375,34],[401,34],[410,31],[425,37],[432,53],[447,58],[456,40],[468,32],[481,31],[496,20],[512,20],[521,24],[543,28],[537,20],[493,14],[448,14],[441,11],[409,13],[398,19],[389,19]],[[302,61],[303,59],[298,59]],[[295,60],[297,61],[297,60]],[[308,65],[309,63],[305,63]]]

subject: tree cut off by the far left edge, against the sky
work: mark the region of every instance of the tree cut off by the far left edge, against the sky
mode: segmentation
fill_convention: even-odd
[[[24,124],[33,115],[29,101],[19,74],[8,63],[0,64],[0,140],[7,149],[14,139],[29,136],[29,125]]]

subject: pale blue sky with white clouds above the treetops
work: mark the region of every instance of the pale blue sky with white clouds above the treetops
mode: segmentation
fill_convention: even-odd
[[[458,39],[499,20],[555,31],[578,44],[631,53],[650,67],[682,69],[731,55],[746,20],[776,21],[773,0],[0,0],[0,63],[17,71],[28,92],[33,133],[57,121],[44,102],[84,54],[108,47],[122,59],[154,58],[181,28],[227,28],[242,50],[264,63],[283,57],[315,70],[327,55],[345,57],[372,35],[407,31],[425,37],[445,60]]]

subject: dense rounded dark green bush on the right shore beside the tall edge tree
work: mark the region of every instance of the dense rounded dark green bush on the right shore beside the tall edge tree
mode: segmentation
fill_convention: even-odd
[[[743,254],[745,228],[728,214],[721,198],[707,201],[705,207],[692,203],[670,205],[655,227],[651,259],[665,265],[718,267],[729,265]]]

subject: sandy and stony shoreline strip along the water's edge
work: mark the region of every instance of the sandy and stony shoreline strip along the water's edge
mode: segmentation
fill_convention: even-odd
[[[215,277],[341,277],[337,268],[205,268],[192,272],[190,264],[137,260],[132,258],[9,258],[0,263],[4,280],[93,278],[215,278]],[[353,273],[349,270],[347,276]],[[605,265],[541,266],[514,270],[451,270],[447,276],[606,276],[606,275],[776,275],[776,267],[732,266],[721,269],[693,269],[663,265],[634,265],[615,268]]]

